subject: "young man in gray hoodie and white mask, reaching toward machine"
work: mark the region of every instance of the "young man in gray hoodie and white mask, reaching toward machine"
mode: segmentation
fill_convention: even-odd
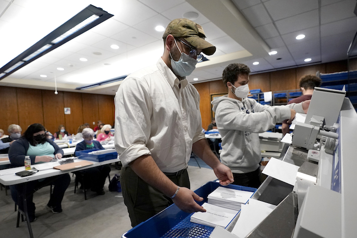
[[[233,184],[258,188],[262,160],[258,133],[286,119],[291,122],[296,112],[307,113],[310,100],[274,107],[262,105],[247,98],[249,73],[249,67],[244,64],[228,65],[222,75],[228,94],[211,103],[222,137],[220,158],[232,170]]]

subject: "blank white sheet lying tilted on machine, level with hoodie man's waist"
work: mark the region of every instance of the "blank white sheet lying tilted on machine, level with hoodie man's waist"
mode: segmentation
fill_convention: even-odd
[[[299,166],[271,157],[262,173],[294,186],[298,169]]]

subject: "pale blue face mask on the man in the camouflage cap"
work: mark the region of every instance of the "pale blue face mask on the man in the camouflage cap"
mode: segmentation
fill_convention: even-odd
[[[174,39],[177,49],[181,52],[180,48],[177,46],[176,40]],[[171,52],[170,52],[171,56]],[[181,77],[188,76],[196,68],[197,60],[189,57],[184,52],[181,52],[179,61],[174,61],[171,56],[171,67],[174,74]]]

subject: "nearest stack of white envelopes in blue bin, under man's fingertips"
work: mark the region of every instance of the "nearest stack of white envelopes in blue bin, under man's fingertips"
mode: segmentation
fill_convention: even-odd
[[[202,206],[207,210],[206,213],[197,211],[197,213],[191,216],[191,222],[211,227],[220,226],[225,228],[238,214],[238,210],[222,208],[209,203],[203,203]]]

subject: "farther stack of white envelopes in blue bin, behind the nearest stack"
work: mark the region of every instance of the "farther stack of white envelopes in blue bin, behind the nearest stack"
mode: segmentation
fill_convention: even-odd
[[[240,210],[241,204],[245,204],[252,195],[253,192],[218,187],[207,198],[210,204]]]

